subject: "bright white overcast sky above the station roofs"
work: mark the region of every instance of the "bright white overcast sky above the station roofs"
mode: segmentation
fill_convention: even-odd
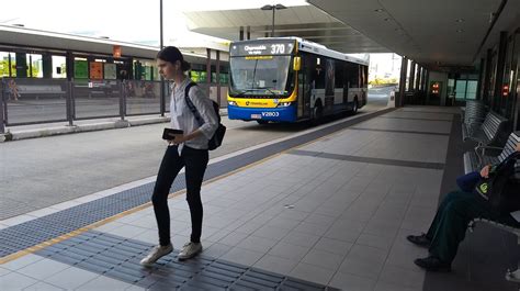
[[[158,45],[159,3],[159,0],[0,0],[3,11],[0,24],[23,24],[29,29]],[[250,9],[272,4],[269,0],[163,0],[162,3],[165,43],[168,40],[200,37],[200,34],[188,31],[184,11]],[[276,0],[276,3],[286,7],[307,4],[305,0]]]

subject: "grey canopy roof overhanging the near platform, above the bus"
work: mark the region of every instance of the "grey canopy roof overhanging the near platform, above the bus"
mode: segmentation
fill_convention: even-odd
[[[471,68],[520,23],[519,0],[308,0],[276,10],[275,36],[299,36],[342,53],[396,53],[430,69]],[[272,11],[184,13],[194,32],[236,41],[271,33]]]

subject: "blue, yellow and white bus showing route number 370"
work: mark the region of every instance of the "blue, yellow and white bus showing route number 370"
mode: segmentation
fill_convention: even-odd
[[[368,61],[298,37],[233,42],[228,117],[299,122],[366,104]]]

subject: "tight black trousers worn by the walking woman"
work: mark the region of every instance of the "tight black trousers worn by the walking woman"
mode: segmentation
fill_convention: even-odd
[[[182,148],[179,156],[178,146],[168,146],[157,175],[151,202],[159,228],[159,244],[170,244],[170,210],[168,194],[179,171],[185,167],[186,201],[191,214],[191,242],[200,243],[202,234],[202,201],[201,186],[208,161],[207,149],[195,149],[188,146]]]

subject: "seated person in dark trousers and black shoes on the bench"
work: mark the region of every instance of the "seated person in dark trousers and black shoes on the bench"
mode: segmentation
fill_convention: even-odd
[[[515,149],[520,152],[520,143]],[[515,167],[513,164],[512,167]],[[482,168],[479,176],[488,178],[490,168],[490,165]],[[479,179],[478,175],[477,179]],[[516,200],[520,200],[518,183],[507,183],[501,193],[507,197],[515,195]],[[518,210],[518,203],[509,206],[512,209],[509,209],[507,213]],[[428,257],[416,259],[414,262],[428,271],[451,271],[451,262],[455,258],[459,244],[464,239],[468,223],[476,217],[499,220],[509,225],[518,224],[511,215],[493,211],[490,203],[474,191],[450,192],[439,205],[428,232],[406,237],[418,246],[428,247],[430,253]]]

